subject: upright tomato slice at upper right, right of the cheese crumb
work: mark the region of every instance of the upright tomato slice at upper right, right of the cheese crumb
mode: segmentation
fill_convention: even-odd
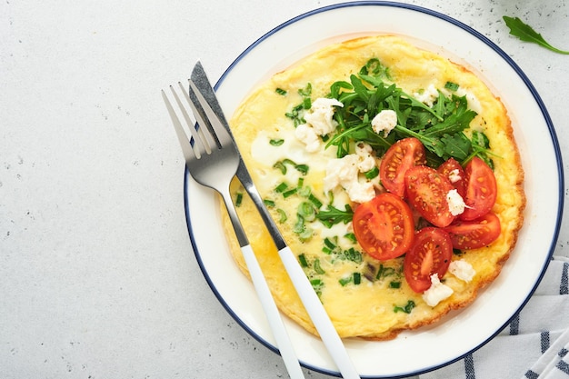
[[[464,175],[466,208],[460,218],[474,220],[490,212],[494,206],[497,194],[496,178],[492,168],[477,156],[464,166]]]

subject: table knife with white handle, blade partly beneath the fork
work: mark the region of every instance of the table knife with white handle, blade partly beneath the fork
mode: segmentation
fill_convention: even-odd
[[[215,115],[217,115],[221,123],[233,137],[221,105],[219,105],[219,101],[215,96],[214,88],[210,84],[201,62],[198,61],[195,64],[191,79],[195,83],[195,86],[198,88],[200,93],[204,95],[205,100],[214,110]],[[191,91],[190,99],[196,105],[198,112],[202,113],[202,116],[205,116],[204,109],[199,105],[195,94],[193,94]],[[276,248],[278,249],[278,254],[284,264],[284,269],[289,275],[294,285],[294,289],[299,295],[304,308],[306,309],[306,312],[310,316],[314,327],[318,331],[318,334],[320,335],[320,338],[322,339],[326,350],[332,357],[334,364],[336,364],[338,370],[340,371],[340,374],[342,374],[345,379],[360,379],[360,376],[355,370],[354,364],[352,363],[352,360],[345,349],[342,339],[336,332],[334,324],[332,324],[332,320],[330,320],[330,317],[324,309],[324,305],[314,291],[314,288],[306,277],[306,274],[304,274],[304,270],[298,263],[296,256],[284,241],[283,235],[276,226],[275,221],[271,217],[271,214],[269,214],[268,210],[266,209],[263,198],[257,191],[251,175],[249,174],[249,171],[247,170],[245,162],[241,156],[239,159],[239,166],[237,168],[236,176],[241,184],[244,185],[245,190],[253,200],[259,214],[261,214],[261,217],[263,218],[263,222],[265,223],[269,234],[271,234],[271,237],[275,241]]]

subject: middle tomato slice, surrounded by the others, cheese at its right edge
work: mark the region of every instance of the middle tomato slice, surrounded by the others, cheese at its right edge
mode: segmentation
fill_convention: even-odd
[[[429,223],[444,227],[454,221],[446,201],[454,186],[434,168],[417,165],[407,170],[405,189],[409,203]]]

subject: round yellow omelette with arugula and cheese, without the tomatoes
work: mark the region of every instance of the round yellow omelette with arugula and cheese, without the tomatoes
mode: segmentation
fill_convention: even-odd
[[[504,105],[464,66],[400,37],[374,35],[321,49],[257,87],[229,124],[265,205],[342,337],[384,340],[439,321],[473,302],[514,249],[524,220],[524,172]],[[435,135],[443,125],[448,130]],[[405,272],[405,259],[414,249],[410,244],[425,228],[449,232],[448,227],[461,223],[460,213],[471,212],[474,205],[459,198],[451,206],[447,198],[448,208],[460,210],[450,216],[450,226],[441,226],[436,224],[448,209],[434,211],[434,221],[411,204],[413,231],[404,237],[409,244],[394,240],[393,257],[370,248],[354,226],[363,223],[377,239],[386,237],[354,214],[390,192],[412,203],[406,198],[411,179],[401,179],[407,185],[398,193],[379,175],[399,140],[422,142],[420,165],[431,171],[449,157],[467,171],[468,162],[482,162],[480,156],[495,178],[488,213],[497,216],[499,234],[484,246],[453,245],[438,276],[428,273],[432,282],[426,289],[417,290]],[[458,152],[463,143],[468,149]],[[444,180],[453,183],[452,177]],[[232,194],[277,305],[316,334],[265,225],[237,181]],[[404,209],[397,214],[407,214],[407,205]],[[247,274],[226,214],[223,220],[235,262]],[[424,267],[434,258],[422,259]]]

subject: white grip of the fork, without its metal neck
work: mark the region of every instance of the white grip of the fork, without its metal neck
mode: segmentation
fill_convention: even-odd
[[[255,285],[255,290],[261,300],[261,305],[265,310],[265,314],[273,335],[275,336],[276,344],[278,346],[279,352],[283,357],[284,365],[288,370],[288,374],[291,379],[304,379],[304,374],[294,353],[293,344],[286,333],[286,329],[283,324],[283,319],[281,314],[276,307],[275,300],[269,289],[268,284],[265,281],[265,276],[261,271],[261,267],[253,253],[253,249],[250,244],[241,247],[243,256],[245,257],[245,264],[251,275],[251,280],[253,285]],[[314,291],[313,291],[314,292]]]

